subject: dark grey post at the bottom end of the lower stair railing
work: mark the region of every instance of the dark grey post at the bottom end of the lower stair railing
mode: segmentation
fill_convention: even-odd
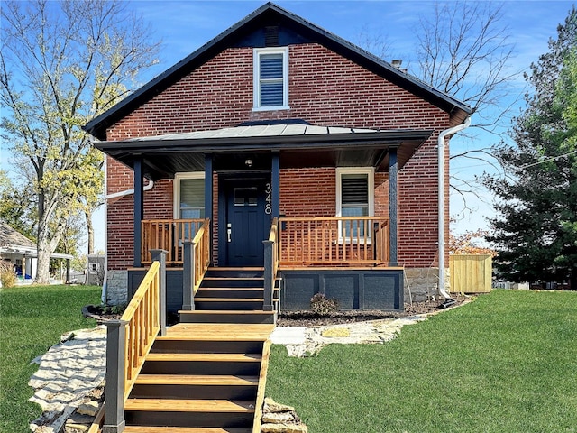
[[[106,389],[103,433],[124,430],[124,363],[126,325],[124,320],[106,322]]]

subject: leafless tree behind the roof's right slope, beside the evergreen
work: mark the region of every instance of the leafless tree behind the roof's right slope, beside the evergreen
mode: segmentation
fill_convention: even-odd
[[[489,132],[508,113],[511,103],[503,109],[503,102],[519,75],[510,69],[514,47],[502,9],[491,2],[437,3],[432,15],[421,15],[417,31],[418,77],[471,106],[472,127]]]

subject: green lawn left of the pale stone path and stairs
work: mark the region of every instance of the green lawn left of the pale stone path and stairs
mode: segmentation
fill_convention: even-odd
[[[0,290],[0,432],[30,431],[28,424],[41,415],[28,401],[28,381],[38,366],[32,359],[46,353],[60,335],[95,327],[80,309],[99,303],[94,286],[35,286]]]

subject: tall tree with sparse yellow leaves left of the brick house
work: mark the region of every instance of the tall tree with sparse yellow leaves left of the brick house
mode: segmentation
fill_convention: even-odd
[[[70,215],[91,213],[102,190],[101,156],[80,126],[125,97],[158,44],[119,0],[2,2],[1,128],[32,172],[37,198],[38,272]]]

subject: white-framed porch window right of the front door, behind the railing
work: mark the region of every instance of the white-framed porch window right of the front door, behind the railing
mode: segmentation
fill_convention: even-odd
[[[336,215],[337,217],[371,217],[374,215],[374,170],[372,168],[336,170]],[[372,230],[369,229],[368,221],[352,219],[342,224],[339,225],[341,240],[371,239]]]

